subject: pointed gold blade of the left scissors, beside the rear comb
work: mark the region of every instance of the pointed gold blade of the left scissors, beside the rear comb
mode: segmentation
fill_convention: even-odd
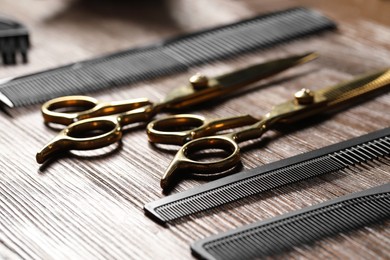
[[[291,67],[309,62],[318,55],[313,52],[252,65],[231,73],[207,79],[203,86],[188,84],[171,91],[165,100],[168,109],[181,109],[229,94],[243,86],[276,75]]]

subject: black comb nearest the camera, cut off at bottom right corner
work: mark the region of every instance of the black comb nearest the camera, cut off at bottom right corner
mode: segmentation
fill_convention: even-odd
[[[258,259],[390,217],[390,184],[343,196],[199,240],[201,259]]]

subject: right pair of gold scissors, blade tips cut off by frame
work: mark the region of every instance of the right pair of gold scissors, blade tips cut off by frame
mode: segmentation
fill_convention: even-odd
[[[348,105],[355,98],[365,97],[385,86],[390,86],[390,69],[317,91],[302,89],[295,93],[292,100],[274,106],[261,119],[243,115],[208,120],[198,115],[183,114],[155,120],[147,126],[150,142],[183,145],[165,171],[160,185],[163,189],[168,188],[172,178],[179,172],[183,173],[183,170],[198,174],[227,171],[240,161],[238,143],[260,138],[276,123],[290,124],[339,105]],[[243,129],[233,129],[233,132],[218,135],[222,130],[245,126],[240,124],[241,121],[254,123]],[[212,162],[191,159],[195,153],[207,149],[222,149],[227,156]]]

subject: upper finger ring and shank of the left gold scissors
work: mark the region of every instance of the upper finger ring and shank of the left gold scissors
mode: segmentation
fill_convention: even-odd
[[[65,96],[47,101],[41,111],[46,123],[70,125],[78,120],[123,113],[150,104],[146,98],[99,102],[89,96]]]

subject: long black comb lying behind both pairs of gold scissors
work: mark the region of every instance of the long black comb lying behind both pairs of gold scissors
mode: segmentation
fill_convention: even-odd
[[[14,78],[0,85],[0,101],[9,107],[17,107],[62,95],[126,85],[335,27],[332,21],[313,10],[288,9]]]

